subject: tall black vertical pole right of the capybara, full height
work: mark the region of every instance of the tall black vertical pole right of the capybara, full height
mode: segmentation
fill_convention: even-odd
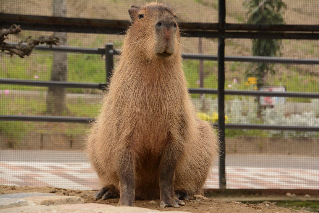
[[[225,170],[225,0],[218,1],[218,126],[219,126],[219,189],[226,189]]]

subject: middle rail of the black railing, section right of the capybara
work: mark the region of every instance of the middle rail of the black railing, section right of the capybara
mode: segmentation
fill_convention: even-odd
[[[189,88],[188,91],[191,94],[217,94],[217,89],[209,89],[209,88]],[[264,92],[260,90],[225,90],[225,95],[319,98],[319,93]]]

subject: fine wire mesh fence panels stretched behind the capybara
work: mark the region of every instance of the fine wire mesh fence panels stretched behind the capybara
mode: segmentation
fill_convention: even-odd
[[[226,23],[248,23],[249,3],[252,2],[227,0]],[[263,8],[265,6],[263,4],[267,2],[259,1],[257,7]],[[176,8],[180,24],[218,22],[216,0],[165,3]],[[282,8],[284,24],[306,26],[319,23],[319,14],[315,10],[319,6],[317,1],[308,1],[306,4],[291,0],[284,3],[286,5]],[[0,11],[2,14],[15,14],[19,11],[19,14],[23,15],[129,20],[127,10],[132,4],[137,3],[14,0],[1,2]],[[54,13],[54,8],[58,12]],[[66,11],[61,13],[63,8]],[[17,15],[11,17],[16,18]],[[27,30],[23,30],[24,26],[20,24],[22,32],[9,35],[8,42],[20,42],[27,36],[53,34],[50,25],[42,24],[44,26],[42,30],[45,31],[32,30],[30,26]],[[64,29],[66,28],[61,31]],[[188,29],[183,30],[187,34]],[[122,31],[125,29],[119,32]],[[267,37],[268,31],[264,33],[260,40],[266,45],[271,44],[274,40]],[[30,86],[1,81],[0,184],[72,189],[99,187],[97,176],[83,152],[86,134],[89,131],[89,124],[85,120],[95,118],[99,114],[104,95],[98,86],[98,84],[104,85],[107,78],[107,56],[103,48],[107,42],[113,43],[113,49],[121,48],[124,35],[68,32],[58,36],[64,37],[63,47],[91,48],[96,49],[98,53],[44,51],[38,48],[24,58],[0,54],[0,79],[37,82],[58,80],[92,83],[97,87]],[[183,59],[183,69],[189,88],[214,90],[212,94],[190,91],[199,118],[217,123],[218,39],[216,36],[209,37],[213,36],[182,38],[182,52],[186,54]],[[256,44],[257,40],[247,38],[225,40],[226,187],[318,190],[319,40],[318,38],[277,39],[274,42],[277,49],[272,51],[273,54],[259,55],[267,57],[267,60],[270,60],[268,57],[276,57],[268,62],[254,58],[256,56],[254,42]],[[190,59],[194,57],[187,57],[187,54],[202,54],[206,58],[197,55],[196,59]],[[116,68],[120,56],[115,54],[113,57]],[[262,71],[267,70],[261,72],[264,73],[262,76],[258,72],[260,67],[264,67]],[[231,91],[235,93],[230,94]],[[245,95],[245,91],[301,95]],[[20,120],[5,116],[17,116]],[[78,123],[40,122],[31,121],[32,119],[22,120],[23,116],[84,119]],[[240,125],[248,126],[245,128]],[[295,128],[266,128],[266,126]],[[206,188],[219,188],[218,166],[218,162],[215,161]]]

